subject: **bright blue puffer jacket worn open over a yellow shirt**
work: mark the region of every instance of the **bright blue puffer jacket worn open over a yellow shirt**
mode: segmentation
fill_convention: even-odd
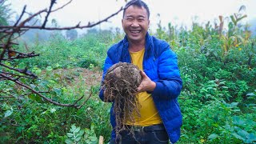
[[[110,47],[102,80],[110,66],[118,62],[131,62],[128,47],[127,37]],[[151,92],[154,104],[166,127],[170,142],[177,142],[182,126],[182,114],[177,101],[182,90],[182,79],[178,70],[177,56],[167,42],[146,34],[143,70],[152,81],[156,82],[156,87]],[[99,97],[104,99],[103,90],[100,91]],[[113,107],[112,104],[110,110],[110,123],[113,126],[112,139],[115,138],[114,126],[116,126]]]

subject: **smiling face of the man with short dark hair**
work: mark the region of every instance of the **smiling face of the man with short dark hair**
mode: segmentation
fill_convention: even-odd
[[[145,40],[150,21],[144,7],[129,6],[122,19],[122,28],[131,42]]]

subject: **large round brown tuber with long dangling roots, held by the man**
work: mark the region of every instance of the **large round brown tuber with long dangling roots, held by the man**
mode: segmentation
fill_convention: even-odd
[[[106,72],[102,88],[106,90],[105,101],[114,102],[117,138],[119,132],[126,129],[123,123],[127,120],[134,123],[134,112],[140,115],[135,93],[141,82],[138,66],[131,63],[119,62]]]

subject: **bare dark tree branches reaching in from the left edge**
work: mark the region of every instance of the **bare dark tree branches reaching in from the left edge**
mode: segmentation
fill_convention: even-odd
[[[47,98],[46,96],[42,95],[42,92],[34,90],[32,87],[27,86],[26,84],[19,81],[20,78],[38,78],[36,74],[33,74],[30,70],[27,68],[24,69],[18,69],[15,66],[7,66],[4,62],[6,61],[14,61],[21,58],[34,58],[36,56],[39,56],[39,54],[35,54],[33,52],[28,53],[22,53],[18,52],[17,50],[14,50],[14,45],[18,45],[18,43],[15,43],[14,40],[16,38],[19,38],[22,34],[25,34],[27,30],[72,30],[72,29],[85,29],[85,28],[91,28],[94,26],[99,25],[102,22],[108,22],[108,20],[118,13],[120,13],[122,10],[125,10],[125,8],[122,8],[115,12],[114,14],[111,14],[110,16],[99,20],[98,22],[88,22],[87,25],[80,26],[81,22],[78,22],[75,26],[64,26],[64,27],[47,27],[46,23],[48,22],[48,18],[51,13],[61,10],[65,6],[69,5],[73,0],[70,0],[69,2],[66,2],[66,4],[58,7],[57,9],[53,10],[53,6],[56,3],[57,0],[50,0],[50,6],[49,9],[44,10],[38,10],[37,13],[29,14],[26,12],[26,6],[23,7],[22,13],[18,17],[18,20],[14,23],[13,26],[0,26],[0,79],[6,80],[6,81],[12,81],[15,82],[18,86],[25,87],[26,89],[30,90],[32,94],[37,94],[41,98],[43,98],[46,102],[50,102],[57,106],[70,106],[75,108],[81,108],[85,103],[88,101],[88,99],[91,97],[92,92],[90,92],[90,95],[84,99],[85,95],[78,98],[73,104],[62,104],[60,102],[55,102],[54,100]],[[0,0],[0,3],[4,2],[3,0]],[[28,14],[27,18],[23,18],[24,14]],[[37,16],[41,16],[41,14],[46,14],[46,17],[44,18],[44,21],[42,22],[42,26],[35,26],[36,22],[34,24],[27,24],[29,23],[33,18],[36,18]],[[22,20],[24,19],[24,20]],[[2,92],[1,92],[2,93]],[[9,96],[9,95],[6,95]],[[8,97],[9,98],[9,97]],[[11,98],[11,96],[10,96]],[[78,102],[83,102],[81,105],[78,105]]]

